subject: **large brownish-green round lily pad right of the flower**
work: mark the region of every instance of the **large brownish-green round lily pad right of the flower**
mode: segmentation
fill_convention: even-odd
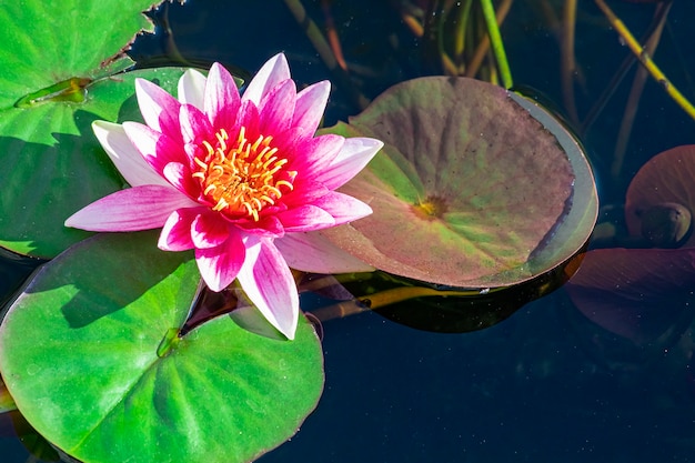
[[[597,194],[576,140],[534,102],[496,85],[415,79],[328,131],[385,142],[341,188],[374,213],[322,232],[376,269],[507,286],[566,261],[593,230]]]

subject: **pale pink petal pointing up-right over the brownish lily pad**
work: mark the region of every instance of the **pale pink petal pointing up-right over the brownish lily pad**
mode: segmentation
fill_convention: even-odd
[[[382,149],[384,143],[370,138],[345,139],[340,153],[331,161],[330,165],[316,175],[316,180],[331,190],[344,185],[357,174]]]

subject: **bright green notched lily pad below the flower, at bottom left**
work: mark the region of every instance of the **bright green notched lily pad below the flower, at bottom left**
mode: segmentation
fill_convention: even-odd
[[[177,336],[199,281],[157,233],[101,234],[43,266],[0,326],[20,412],[84,462],[245,462],[292,436],[323,386],[303,318],[294,341],[229,315]],[[158,354],[159,352],[159,354]]]

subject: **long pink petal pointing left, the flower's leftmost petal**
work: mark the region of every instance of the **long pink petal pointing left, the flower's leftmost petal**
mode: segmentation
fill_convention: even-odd
[[[66,220],[66,227],[89,231],[140,231],[164,225],[171,211],[198,207],[171,187],[140,185],[117,191]]]

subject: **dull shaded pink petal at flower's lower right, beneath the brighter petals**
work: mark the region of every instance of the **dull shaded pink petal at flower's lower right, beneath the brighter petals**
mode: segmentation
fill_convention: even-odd
[[[292,269],[312,273],[373,272],[374,268],[349,254],[318,232],[286,233],[274,241]]]

